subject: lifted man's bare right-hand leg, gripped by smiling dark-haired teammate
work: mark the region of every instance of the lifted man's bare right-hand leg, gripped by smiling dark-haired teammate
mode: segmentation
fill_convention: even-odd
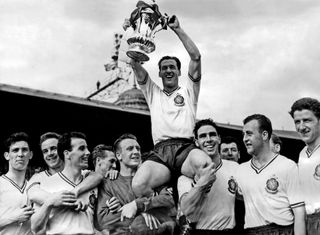
[[[189,152],[182,164],[181,174],[194,178],[195,175],[199,176],[199,171],[210,163],[212,163],[211,158],[202,150],[195,148]]]

